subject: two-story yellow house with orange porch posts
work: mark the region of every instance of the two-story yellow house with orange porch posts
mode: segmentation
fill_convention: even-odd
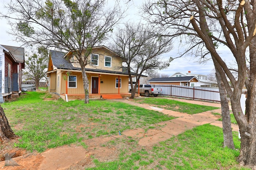
[[[92,48],[92,54],[88,58],[91,63],[86,66],[89,98],[130,96],[128,71],[122,67],[122,59],[116,53],[105,46],[97,46]],[[71,52],[51,50],[46,74],[49,78],[49,92],[60,95],[64,100],[66,94],[68,99],[84,98],[81,67]]]

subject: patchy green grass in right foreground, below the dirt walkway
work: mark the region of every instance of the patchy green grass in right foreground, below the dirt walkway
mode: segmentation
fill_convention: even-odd
[[[222,129],[209,124],[201,125],[160,142],[152,149],[140,148],[130,152],[135,150],[130,147],[122,150],[119,158],[111,162],[94,159],[96,166],[86,170],[246,170],[236,162],[240,141],[237,133],[233,136],[236,149],[223,148]]]

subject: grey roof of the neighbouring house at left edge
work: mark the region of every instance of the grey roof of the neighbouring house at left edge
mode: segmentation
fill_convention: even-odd
[[[8,45],[1,45],[4,50],[14,58],[17,63],[24,63],[25,50],[23,47],[13,47]]]

